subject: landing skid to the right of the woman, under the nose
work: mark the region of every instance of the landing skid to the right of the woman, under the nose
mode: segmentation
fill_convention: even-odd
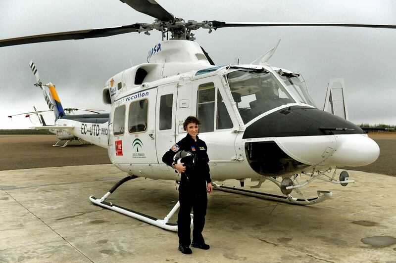
[[[254,197],[258,197],[258,198],[262,198],[262,199],[269,199],[269,200],[274,200],[274,201],[284,202],[284,203],[289,203],[289,204],[295,204],[295,205],[313,205],[313,204],[323,202],[326,199],[329,199],[330,197],[333,196],[332,192],[318,190],[318,191],[316,191],[318,196],[315,198],[297,199],[297,198],[294,198],[290,194],[288,194],[286,196],[285,195],[280,196],[280,195],[261,193],[261,192],[250,191],[250,190],[245,190],[245,189],[240,189],[240,188],[235,188],[235,187],[217,185],[216,183],[213,183],[213,188],[216,190],[224,191],[224,192],[243,194],[243,195],[247,195],[247,196],[254,196]]]

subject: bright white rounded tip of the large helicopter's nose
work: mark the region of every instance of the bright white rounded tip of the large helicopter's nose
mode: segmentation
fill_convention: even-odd
[[[366,134],[336,135],[336,149],[325,161],[337,166],[364,166],[375,162],[380,147]]]

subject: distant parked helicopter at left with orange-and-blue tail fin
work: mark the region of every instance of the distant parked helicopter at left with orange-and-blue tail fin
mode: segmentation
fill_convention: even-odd
[[[42,83],[42,81],[40,80],[39,71],[36,68],[36,66],[33,63],[33,61],[29,62],[29,67],[32,70],[33,75],[35,76],[36,81],[37,81],[37,83],[34,84],[34,86],[39,87],[42,90],[44,99],[46,100],[46,103],[47,103],[47,105],[49,107],[49,110],[37,111],[36,107],[33,106],[33,108],[34,108],[33,112],[14,114],[14,115],[8,116],[8,118],[12,118],[12,117],[18,116],[18,115],[26,115],[25,117],[29,118],[30,121],[32,122],[32,120],[30,118],[30,115],[31,114],[36,115],[37,118],[40,121],[40,124],[42,125],[40,127],[34,127],[36,130],[48,130],[49,132],[51,132],[53,134],[56,134],[56,137],[57,137],[58,141],[55,144],[53,144],[52,146],[55,146],[55,147],[66,147],[67,144],[70,141],[72,141],[72,140],[77,140],[77,141],[80,142],[80,144],[86,144],[86,142],[84,142],[81,138],[69,133],[67,130],[53,128],[53,126],[47,125],[45,120],[44,120],[44,118],[43,118],[42,113],[52,111],[54,113],[55,119],[58,118],[58,117],[63,117],[63,118],[67,118],[67,119],[75,119],[75,120],[78,120],[78,121],[85,121],[85,122],[90,122],[90,123],[104,123],[104,122],[107,122],[109,114],[108,113],[99,113],[98,112],[98,111],[103,111],[103,110],[76,109],[76,108],[64,108],[63,109],[62,103],[60,102],[60,98],[59,98],[59,96],[58,96],[58,94],[56,92],[55,85],[53,85],[50,82],[48,84],[43,84]],[[47,87],[49,89],[49,95],[48,95],[45,87]],[[93,112],[95,114],[80,114],[80,115],[72,114],[72,115],[70,115],[70,113],[73,113],[75,111],[80,111],[80,110],[81,111]],[[62,141],[65,141],[65,142],[62,145],[60,145],[59,143],[62,142]]]

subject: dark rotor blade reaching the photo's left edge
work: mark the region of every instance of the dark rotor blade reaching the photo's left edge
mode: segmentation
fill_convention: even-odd
[[[128,26],[86,29],[86,30],[58,32],[58,33],[36,35],[36,36],[26,36],[20,38],[0,40],[0,46],[30,44],[30,43],[40,43],[40,42],[60,41],[60,40],[72,40],[72,39],[77,40],[77,39],[109,37],[119,34],[130,33],[130,32],[137,32],[140,29],[140,27],[141,24],[136,23]]]

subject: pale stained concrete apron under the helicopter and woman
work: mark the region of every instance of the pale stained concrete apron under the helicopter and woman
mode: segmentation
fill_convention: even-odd
[[[302,188],[307,198],[333,191],[313,206],[215,191],[203,232],[210,250],[183,255],[176,233],[88,200],[125,176],[112,165],[1,171],[0,262],[396,261],[396,177],[349,175],[356,182],[346,187],[318,180]],[[178,200],[175,188],[173,181],[137,178],[107,200],[163,218]],[[259,190],[281,194],[269,181]]]

